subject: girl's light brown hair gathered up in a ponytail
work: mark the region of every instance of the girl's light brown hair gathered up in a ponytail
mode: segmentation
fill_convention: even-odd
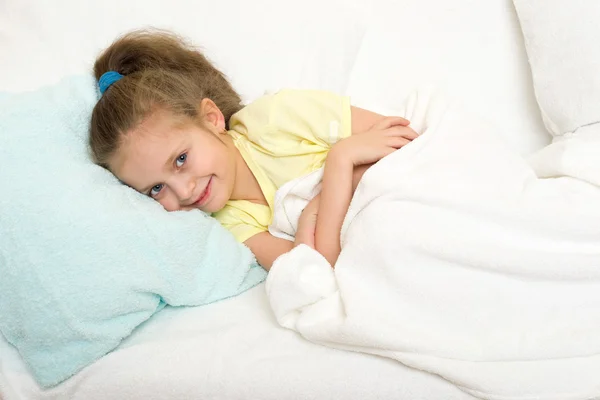
[[[139,30],[118,38],[94,64],[96,80],[107,71],[123,78],[94,107],[89,137],[95,162],[105,168],[125,133],[155,110],[202,123],[200,102],[209,98],[227,124],[242,108],[240,96],[225,75],[171,32]]]

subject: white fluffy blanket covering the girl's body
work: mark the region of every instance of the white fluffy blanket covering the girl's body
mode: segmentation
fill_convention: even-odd
[[[538,177],[490,126],[430,92],[403,111],[422,136],[364,175],[335,270],[304,245],[275,262],[266,287],[279,323],[482,398],[600,395],[600,189]],[[600,159],[597,143],[582,148]],[[556,156],[535,165],[547,172]],[[573,171],[600,176],[585,159]],[[317,180],[299,182],[302,192]],[[303,206],[306,193],[288,195]]]

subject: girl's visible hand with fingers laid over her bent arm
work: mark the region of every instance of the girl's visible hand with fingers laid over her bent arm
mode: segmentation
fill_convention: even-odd
[[[331,152],[348,157],[355,167],[376,163],[419,136],[405,123],[400,117],[384,118],[369,131],[336,143]]]

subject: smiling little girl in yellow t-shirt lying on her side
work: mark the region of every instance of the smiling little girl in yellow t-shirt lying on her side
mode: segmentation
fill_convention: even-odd
[[[299,243],[333,266],[360,177],[417,137],[407,120],[325,91],[282,90],[243,107],[223,73],[167,32],[121,37],[94,73],[96,162],[168,211],[212,213],[267,270]],[[277,189],[324,163],[321,194],[302,213],[295,243],[272,236]]]

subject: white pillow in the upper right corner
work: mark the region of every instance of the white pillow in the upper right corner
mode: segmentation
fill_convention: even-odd
[[[600,121],[600,2],[513,1],[546,128],[561,136]]]

